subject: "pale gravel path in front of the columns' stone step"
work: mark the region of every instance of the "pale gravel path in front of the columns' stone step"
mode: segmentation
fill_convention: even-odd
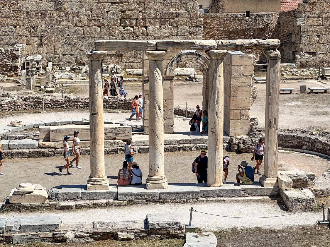
[[[265,199],[263,201],[224,201],[224,202],[198,202],[187,204],[147,204],[130,205],[120,207],[93,208],[82,210],[61,210],[45,212],[47,216],[59,216],[62,223],[93,222],[93,221],[131,221],[144,220],[148,213],[182,213],[185,224],[189,223],[190,207],[197,211],[208,212],[217,215],[234,217],[268,217],[285,215],[289,212],[283,211],[277,201]],[[37,216],[40,212],[5,213],[2,217]],[[315,224],[316,220],[322,218],[321,212],[303,212],[282,217],[265,219],[235,219],[206,215],[193,212],[192,224],[206,230],[221,228],[245,228],[264,227],[282,229],[287,226],[298,226]]]

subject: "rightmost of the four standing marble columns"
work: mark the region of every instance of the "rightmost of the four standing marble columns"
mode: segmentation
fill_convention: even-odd
[[[259,182],[264,187],[277,187],[281,53],[277,49],[264,50],[264,53],[268,60],[266,77],[265,172],[259,179]]]

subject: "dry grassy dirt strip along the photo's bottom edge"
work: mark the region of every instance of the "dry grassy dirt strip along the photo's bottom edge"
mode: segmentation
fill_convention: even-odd
[[[320,226],[301,226],[288,227],[281,230],[265,230],[261,228],[250,229],[230,229],[214,232],[218,245],[217,247],[328,247],[330,246],[329,228]],[[244,242],[244,244],[242,244]],[[46,243],[30,243],[16,244],[17,247],[182,247],[183,239],[145,239],[118,242],[116,240],[103,240],[94,243],[77,243],[77,244],[46,244]],[[0,247],[9,247],[10,244],[0,245]]]

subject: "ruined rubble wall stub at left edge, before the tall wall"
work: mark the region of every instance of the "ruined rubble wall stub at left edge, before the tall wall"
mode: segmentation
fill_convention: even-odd
[[[1,14],[0,14],[1,15]],[[1,32],[0,32],[1,33]],[[0,74],[17,76],[26,58],[26,45],[3,45],[0,47]]]

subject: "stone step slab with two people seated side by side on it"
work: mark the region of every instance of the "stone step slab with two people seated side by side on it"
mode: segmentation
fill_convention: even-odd
[[[120,186],[118,185],[118,201],[134,201],[134,200],[159,200],[159,191],[147,190],[145,184],[141,185],[127,185]]]

